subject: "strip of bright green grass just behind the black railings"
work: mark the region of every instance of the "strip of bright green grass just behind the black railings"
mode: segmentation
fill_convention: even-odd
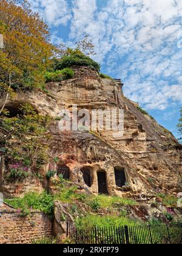
[[[133,219],[125,218],[117,215],[99,216],[89,214],[87,216],[76,219],[76,227],[85,229],[90,227],[113,227],[136,224]]]

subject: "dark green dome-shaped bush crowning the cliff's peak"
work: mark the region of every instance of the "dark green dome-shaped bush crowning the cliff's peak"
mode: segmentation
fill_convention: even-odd
[[[62,57],[60,60],[57,60],[55,69],[61,70],[64,68],[69,68],[71,66],[89,66],[95,68],[97,71],[100,70],[100,65],[97,62],[81,53],[66,55]]]

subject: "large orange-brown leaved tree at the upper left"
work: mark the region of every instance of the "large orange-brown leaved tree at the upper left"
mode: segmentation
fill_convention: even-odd
[[[0,96],[40,87],[54,51],[47,25],[27,1],[1,0],[0,33]]]

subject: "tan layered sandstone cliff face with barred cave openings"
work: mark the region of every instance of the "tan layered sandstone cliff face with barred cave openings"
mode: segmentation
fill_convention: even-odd
[[[73,69],[73,79],[47,84],[49,94],[18,94],[7,107],[29,102],[39,113],[53,117],[58,117],[61,110],[69,110],[72,116],[73,104],[90,113],[93,109],[117,113],[123,109],[124,133],[115,137],[115,130],[88,132],[84,127],[80,132],[62,132],[58,128],[60,121],[55,121],[50,127],[50,158],[45,171],[58,169],[65,174],[67,166],[69,178],[93,194],[103,191],[110,195],[150,197],[158,192],[182,191],[182,146],[172,133],[126,99],[120,81],[101,79],[87,67]],[[118,114],[114,118],[118,120]],[[106,124],[109,115],[104,120]],[[59,158],[57,163],[53,161],[55,157]]]

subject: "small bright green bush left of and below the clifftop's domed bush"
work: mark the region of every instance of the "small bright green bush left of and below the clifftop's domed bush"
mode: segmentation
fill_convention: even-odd
[[[71,68],[64,68],[54,72],[45,73],[46,82],[61,82],[62,80],[71,79],[74,76],[74,71]]]

